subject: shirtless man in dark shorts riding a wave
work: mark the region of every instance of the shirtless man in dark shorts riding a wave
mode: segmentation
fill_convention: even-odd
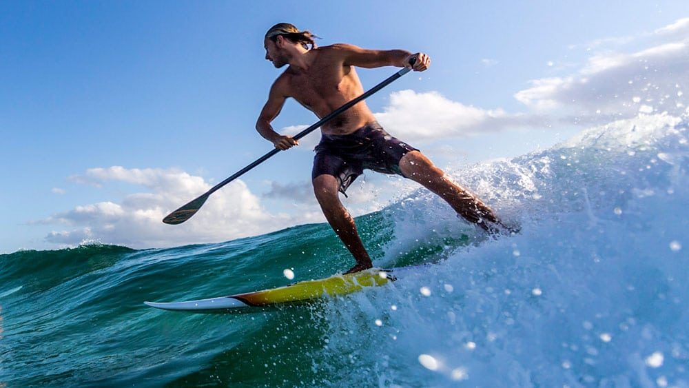
[[[270,125],[288,97],[322,118],[364,92],[354,66],[411,66],[422,72],[431,64],[422,52],[364,50],[349,44],[318,48],[314,37],[289,23],[276,24],[265,34],[265,59],[276,68],[288,64],[289,67],[273,83],[256,130],[279,150],[298,145],[291,136],[278,134]],[[413,65],[411,59],[415,59]],[[338,192],[345,193],[364,168],[400,174],[420,183],[488,232],[495,233],[497,227],[504,227],[489,207],[453,183],[419,150],[385,132],[364,101],[322,125],[321,132],[311,174],[313,191],[325,218],[356,259],[356,265],[346,273],[373,266],[353,218],[338,196]]]

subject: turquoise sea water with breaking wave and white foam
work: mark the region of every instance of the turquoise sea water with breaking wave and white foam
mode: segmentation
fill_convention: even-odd
[[[376,265],[435,265],[307,305],[185,314],[143,301],[349,268],[325,224],[1,255],[0,386],[686,387],[687,127],[639,116],[451,172],[522,233],[487,238],[418,190],[357,223]]]

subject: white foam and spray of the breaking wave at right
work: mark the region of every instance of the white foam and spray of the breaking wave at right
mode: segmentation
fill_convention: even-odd
[[[369,384],[358,366],[386,386],[688,385],[687,128],[641,115],[455,172],[522,232],[331,301],[319,368],[350,385]],[[405,245],[480,236],[422,190],[397,205],[383,265]]]

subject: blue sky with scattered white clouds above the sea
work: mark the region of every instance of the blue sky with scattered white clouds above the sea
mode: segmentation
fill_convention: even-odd
[[[0,253],[211,243],[324,222],[313,133],[186,223],[161,223],[271,150],[254,125],[282,72],[263,36],[283,21],[319,45],[429,54],[429,70],[367,103],[449,171],[686,110],[686,1],[4,1]],[[358,74],[368,89],[396,70]],[[289,100],[273,126],[296,134],[317,120]],[[417,188],[367,172],[343,202],[356,216]]]

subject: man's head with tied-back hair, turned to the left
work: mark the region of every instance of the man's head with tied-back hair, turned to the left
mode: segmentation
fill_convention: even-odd
[[[265,59],[271,61],[276,68],[282,68],[300,48],[309,50],[309,44],[311,48],[316,48],[313,38],[316,38],[316,35],[309,31],[300,31],[294,24],[278,23],[265,33]]]

